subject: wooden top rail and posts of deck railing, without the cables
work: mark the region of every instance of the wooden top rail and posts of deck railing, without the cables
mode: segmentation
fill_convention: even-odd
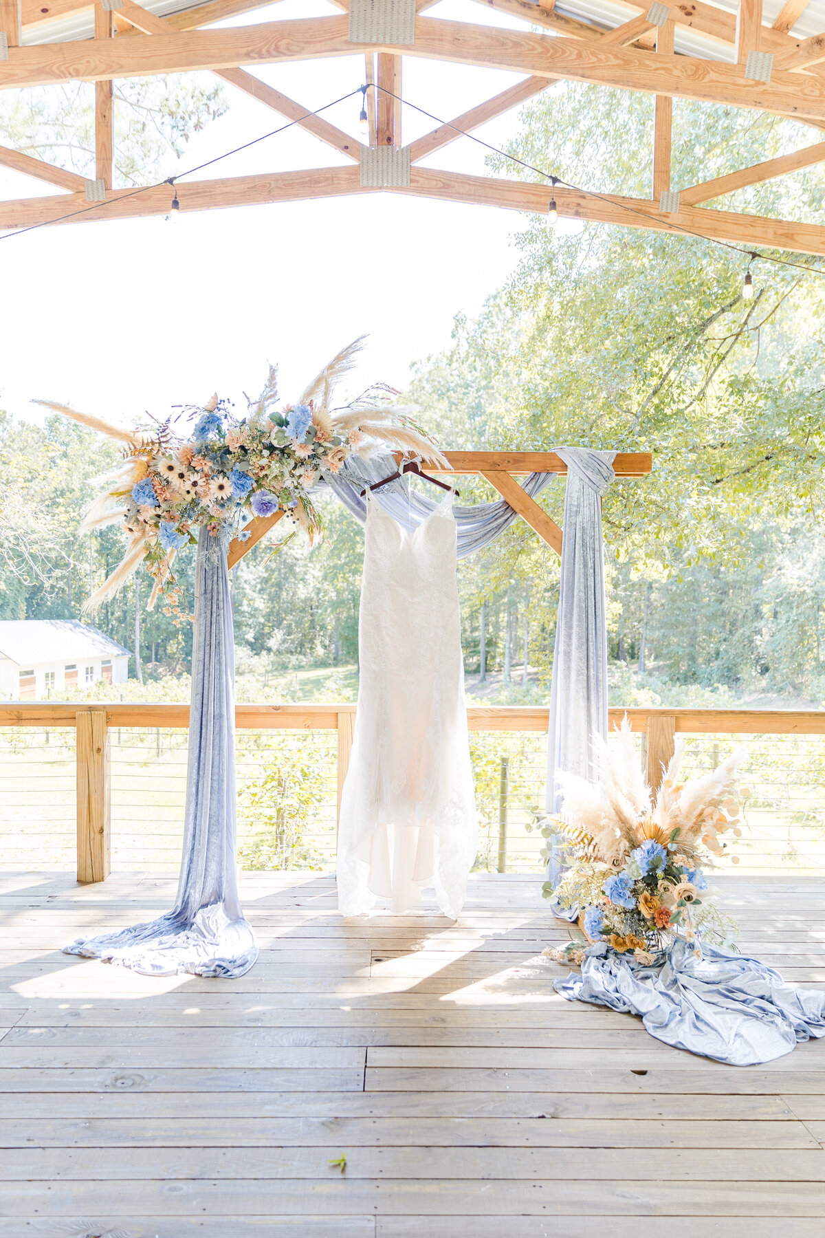
[[[627,717],[643,735],[647,776],[658,786],[662,765],[673,755],[677,732],[746,735],[825,735],[825,711],[800,709],[610,709],[610,724]],[[542,706],[470,706],[470,730],[547,730],[549,711]],[[77,728],[77,855],[78,881],[103,881],[110,870],[111,795],[109,730],[113,727],[189,725],[187,704],[131,702],[7,702],[0,703],[0,727]],[[338,803],[346,777],[354,704],[239,704],[235,725],[251,730],[336,730]]]

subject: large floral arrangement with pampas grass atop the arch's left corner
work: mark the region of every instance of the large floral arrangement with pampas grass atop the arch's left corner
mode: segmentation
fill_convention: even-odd
[[[126,555],[84,605],[96,609],[113,597],[140,563],[155,579],[150,609],[160,593],[166,612],[183,618],[182,592],[172,572],[177,552],[197,542],[205,526],[218,535],[229,527],[241,541],[250,521],[288,515],[309,541],[322,530],[310,498],[324,477],[339,473],[350,453],[369,456],[396,449],[449,467],[433,442],[412,422],[407,410],[388,404],[390,387],[371,387],[357,400],[334,409],[338,380],[351,370],[361,348],[356,339],[309,384],[294,405],[278,405],[277,370],[244,416],[218,395],[204,405],[184,407],[152,427],[122,430],[66,405],[36,401],[99,430],[124,444],[121,465],[99,482],[108,490],[89,508],[82,529],[121,522],[129,537]],[[186,435],[179,426],[190,422]],[[192,618],[192,617],[188,617]]]

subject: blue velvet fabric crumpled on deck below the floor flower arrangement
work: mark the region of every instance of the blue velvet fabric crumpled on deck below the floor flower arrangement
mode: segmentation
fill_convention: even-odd
[[[569,1002],[642,1016],[657,1040],[730,1066],[756,1066],[825,1036],[825,993],[794,989],[756,958],[678,937],[644,967],[605,942],[591,946],[581,974],[555,980]]]

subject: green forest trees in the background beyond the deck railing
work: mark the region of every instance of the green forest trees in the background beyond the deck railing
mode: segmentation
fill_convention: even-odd
[[[646,193],[649,168],[633,152],[652,149],[652,115],[644,95],[562,84],[523,109],[511,154],[599,191]],[[677,102],[678,181],[783,154],[799,134],[774,116]],[[503,166],[500,156],[490,162]],[[820,219],[824,188],[821,167],[811,167],[725,204]],[[416,368],[403,397],[447,448],[652,451],[653,474],[617,482],[604,501],[613,703],[823,706],[824,288],[815,264],[757,260],[754,296],[743,300],[747,255],[690,236],[604,225],[570,233],[537,218],[518,244],[515,276],[476,319],[456,319],[451,347]],[[114,458],[110,444],[61,418],[41,427],[0,413],[0,618],[77,617],[120,560],[116,529],[77,535],[90,479]],[[481,480],[463,478],[460,489],[461,501],[494,498]],[[541,500],[559,524],[563,495],[554,482]],[[246,699],[356,691],[362,534],[333,500],[323,511],[323,545],[308,552],[299,535],[281,535],[233,573]],[[194,565],[184,560],[190,595]],[[553,553],[519,521],[461,563],[459,583],[470,691],[543,699]],[[96,623],[134,649],[137,615],[140,671],[151,682],[130,692],[186,695],[190,631],[162,610],[146,614],[147,595],[139,573]]]

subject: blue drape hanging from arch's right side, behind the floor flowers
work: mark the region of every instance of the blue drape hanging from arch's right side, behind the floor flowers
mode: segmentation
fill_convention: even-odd
[[[615,473],[616,452],[557,447],[568,467],[559,613],[555,623],[550,721],[547,740],[547,811],[558,812],[559,770],[595,781],[599,776],[592,735],[607,737],[607,603],[601,498]],[[554,837],[547,865],[558,884],[566,848]],[[554,915],[575,920],[578,907],[550,900]]]

